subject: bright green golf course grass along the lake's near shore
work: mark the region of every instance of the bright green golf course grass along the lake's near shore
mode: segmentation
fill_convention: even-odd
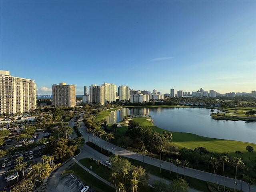
[[[154,126],[150,121],[146,120],[148,117],[135,117],[133,118],[136,122],[138,122],[141,126],[149,126],[152,130],[155,130],[158,133],[162,133],[164,130]],[[121,121],[120,123],[124,123]],[[124,134],[127,130],[126,126],[122,126],[117,128],[117,132],[120,134]],[[166,130],[166,132],[170,132]],[[208,151],[217,152],[217,153],[226,153],[230,156],[237,156],[235,151],[241,151],[243,155],[241,158],[249,158],[249,152],[246,151],[246,146],[250,145],[256,150],[256,144],[248,143],[248,142],[240,142],[233,140],[223,140],[223,139],[215,139],[208,138],[203,136],[198,136],[196,134],[191,133],[182,133],[182,132],[172,132],[172,144],[178,146],[178,148],[188,148],[194,149],[197,147],[204,147]],[[250,153],[250,159],[256,158],[256,153]]]

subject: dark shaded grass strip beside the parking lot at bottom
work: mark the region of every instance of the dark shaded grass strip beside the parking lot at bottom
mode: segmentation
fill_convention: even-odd
[[[78,164],[74,164],[68,170],[73,170],[76,176],[82,180],[84,183],[88,184],[88,186],[92,187],[93,189],[97,190],[98,192],[115,192],[116,190],[109,186],[108,184],[102,182],[101,180],[97,179],[96,177],[92,176],[86,170],[81,168]]]

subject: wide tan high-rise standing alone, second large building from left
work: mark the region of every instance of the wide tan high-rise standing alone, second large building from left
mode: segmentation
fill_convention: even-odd
[[[64,82],[52,85],[52,104],[56,107],[76,106],[76,86]]]

